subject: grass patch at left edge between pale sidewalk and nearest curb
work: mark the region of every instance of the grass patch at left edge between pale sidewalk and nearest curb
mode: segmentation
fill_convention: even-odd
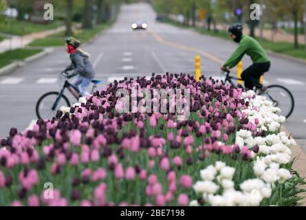
[[[24,60],[25,58],[38,54],[39,52],[42,52],[42,50],[17,49],[3,52],[0,54],[0,68],[10,65],[14,61]]]

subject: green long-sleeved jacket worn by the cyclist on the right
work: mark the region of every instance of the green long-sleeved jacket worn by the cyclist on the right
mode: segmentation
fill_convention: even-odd
[[[243,34],[239,42],[239,47],[223,66],[228,68],[236,66],[244,54],[250,56],[253,63],[266,63],[270,61],[263,47],[252,37]]]

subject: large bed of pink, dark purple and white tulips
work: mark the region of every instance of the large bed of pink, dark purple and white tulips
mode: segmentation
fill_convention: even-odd
[[[178,120],[171,104],[118,113],[116,92],[132,85],[137,103],[142,88],[189,89],[189,118]],[[0,206],[296,205],[305,182],[292,175],[295,142],[280,132],[278,111],[213,79],[116,81],[32,131],[11,129],[1,140]]]

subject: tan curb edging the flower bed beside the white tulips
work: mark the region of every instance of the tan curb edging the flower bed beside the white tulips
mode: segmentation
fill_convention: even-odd
[[[285,126],[281,126],[281,131],[287,133],[287,135],[289,136],[288,131],[285,129]],[[290,139],[294,140],[294,137],[290,137]],[[291,148],[292,151],[292,155],[291,155],[291,159],[295,159],[294,164],[292,166],[292,168],[294,168],[294,170],[296,170],[298,172],[298,175],[300,175],[300,177],[306,177],[306,153],[303,151],[303,148],[301,148],[300,146],[296,145],[294,147]],[[302,188],[304,190],[306,190],[306,186],[298,186],[298,188]],[[306,206],[306,192],[300,193],[299,196],[304,197],[304,199],[302,199],[300,201],[300,206]]]

